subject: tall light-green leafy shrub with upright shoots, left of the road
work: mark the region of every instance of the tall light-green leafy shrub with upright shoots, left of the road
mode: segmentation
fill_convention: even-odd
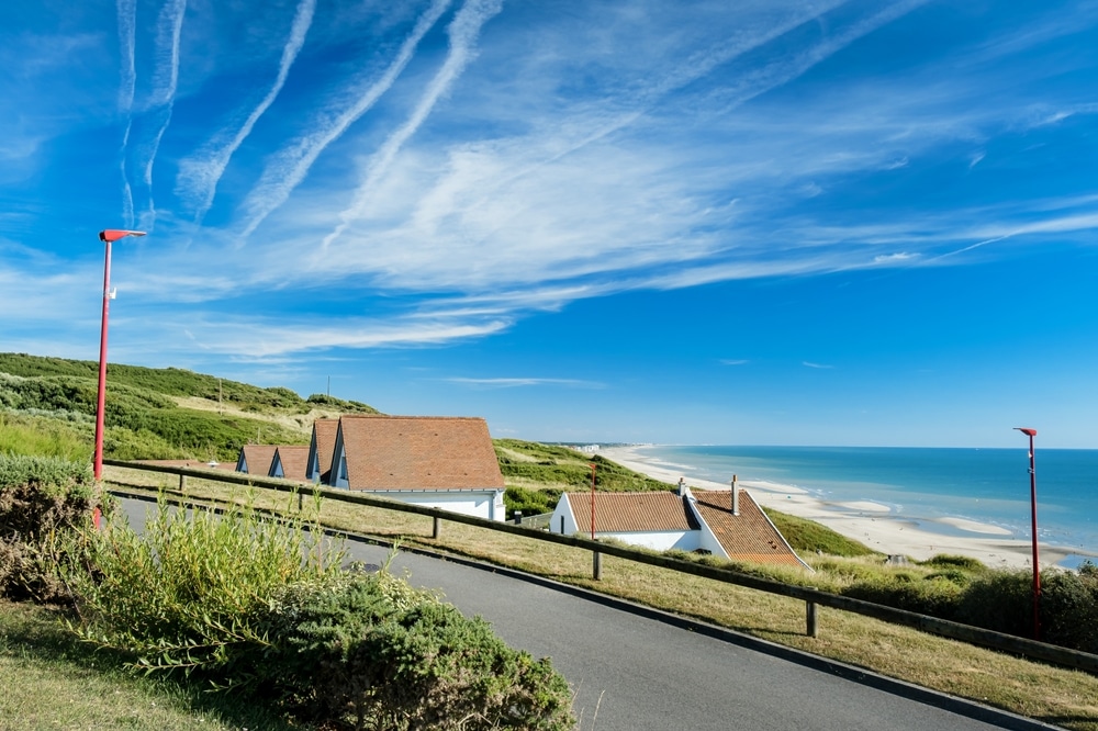
[[[74,551],[80,560],[59,572],[83,639],[149,671],[235,683],[238,646],[267,644],[250,614],[287,583],[340,571],[341,550],[325,550],[323,540],[300,518],[283,525],[248,506],[216,515],[161,499],[143,533],[116,521],[85,531]]]

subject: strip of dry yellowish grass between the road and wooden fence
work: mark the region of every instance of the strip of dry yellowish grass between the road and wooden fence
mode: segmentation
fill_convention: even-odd
[[[175,487],[165,475],[111,468],[120,485]],[[188,479],[188,495],[224,499],[223,484]],[[239,493],[237,492],[239,496]],[[243,496],[240,496],[243,497]],[[257,498],[261,506],[262,498]],[[270,507],[285,496],[272,495]],[[862,666],[1079,731],[1098,731],[1098,677],[1029,662],[874,619],[819,608],[819,637],[805,634],[805,605],[795,599],[603,556],[591,578],[591,553],[456,522],[430,538],[430,518],[328,501],[322,520],[334,528],[445,550],[513,566],[666,611],[710,621],[772,642]]]

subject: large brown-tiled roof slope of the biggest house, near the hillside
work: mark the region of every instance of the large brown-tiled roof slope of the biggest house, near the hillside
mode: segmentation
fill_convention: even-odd
[[[350,490],[503,490],[484,419],[355,415],[339,418]]]

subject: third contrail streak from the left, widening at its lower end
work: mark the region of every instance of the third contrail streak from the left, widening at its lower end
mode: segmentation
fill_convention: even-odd
[[[194,215],[194,223],[202,223],[202,218],[210,210],[210,206],[213,205],[214,196],[217,194],[217,183],[221,181],[225,168],[228,167],[228,161],[233,157],[233,154],[248,135],[251,134],[256,122],[267,112],[285,85],[285,79],[290,75],[290,68],[293,66],[293,61],[298,58],[298,54],[305,43],[305,35],[313,23],[313,13],[315,10],[316,0],[301,0],[298,3],[298,11],[294,14],[293,25],[290,29],[290,40],[282,48],[282,59],[279,63],[278,77],[274,79],[274,85],[267,92],[267,95],[264,97],[262,101],[251,110],[251,114],[248,115],[248,119],[237,131],[233,139],[220,149],[213,150],[204,159],[184,160],[182,162],[179,187],[197,191],[202,198]]]

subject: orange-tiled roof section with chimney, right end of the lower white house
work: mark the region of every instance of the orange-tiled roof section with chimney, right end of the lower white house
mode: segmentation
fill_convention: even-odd
[[[691,493],[698,515],[732,561],[807,567],[746,490],[740,491],[740,514],[735,516],[731,493],[727,490],[692,490]]]

